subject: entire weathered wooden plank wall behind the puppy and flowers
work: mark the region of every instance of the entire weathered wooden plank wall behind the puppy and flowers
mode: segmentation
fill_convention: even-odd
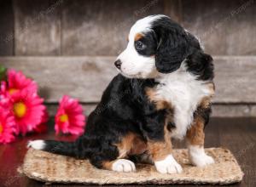
[[[213,116],[256,116],[253,0],[0,0],[0,63],[35,78],[50,108],[70,94],[91,111],[148,14],[171,16],[214,56]]]

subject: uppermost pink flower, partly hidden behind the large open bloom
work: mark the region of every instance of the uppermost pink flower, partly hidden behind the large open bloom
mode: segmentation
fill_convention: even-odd
[[[7,82],[1,83],[2,95],[14,94],[27,89],[31,93],[37,93],[38,85],[32,79],[26,78],[21,71],[9,70],[7,73]]]

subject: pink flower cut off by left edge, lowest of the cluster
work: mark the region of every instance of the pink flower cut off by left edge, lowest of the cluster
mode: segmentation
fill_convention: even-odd
[[[0,105],[0,144],[7,144],[15,140],[17,129],[15,118]]]

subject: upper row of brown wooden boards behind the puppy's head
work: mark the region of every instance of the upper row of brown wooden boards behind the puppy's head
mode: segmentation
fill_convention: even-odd
[[[148,14],[170,15],[200,37],[209,54],[256,53],[254,0],[1,0],[0,3],[1,55],[115,56],[125,48],[132,24]],[[6,40],[9,42],[3,43]]]

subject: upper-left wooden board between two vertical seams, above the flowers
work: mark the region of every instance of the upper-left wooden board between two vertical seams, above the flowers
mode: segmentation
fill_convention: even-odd
[[[15,55],[61,54],[61,3],[14,1]]]

